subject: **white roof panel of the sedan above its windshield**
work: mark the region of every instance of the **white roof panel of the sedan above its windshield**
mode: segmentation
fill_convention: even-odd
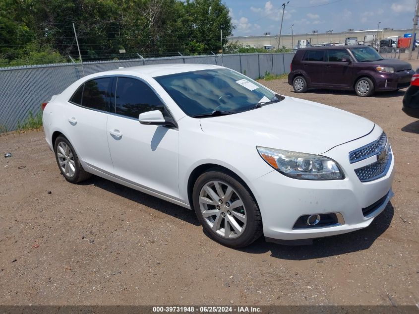
[[[152,65],[140,65],[140,66],[131,66],[126,68],[119,68],[111,70],[109,72],[118,71],[124,72],[126,74],[144,74],[152,77],[176,74],[182,72],[206,70],[206,69],[215,69],[222,68],[222,66],[214,64],[193,64],[193,63],[168,63],[168,64],[152,64]]]

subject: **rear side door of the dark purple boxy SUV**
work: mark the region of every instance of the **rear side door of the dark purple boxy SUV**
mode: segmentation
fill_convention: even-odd
[[[325,50],[307,50],[301,62],[301,68],[308,76],[312,87],[323,87]]]

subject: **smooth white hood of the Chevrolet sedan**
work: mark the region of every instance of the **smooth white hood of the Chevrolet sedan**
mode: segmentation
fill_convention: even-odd
[[[238,114],[203,118],[200,123],[205,133],[222,140],[311,154],[324,153],[374,128],[371,121],[349,112],[292,97]]]

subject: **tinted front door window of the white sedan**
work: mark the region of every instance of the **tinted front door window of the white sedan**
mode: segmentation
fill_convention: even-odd
[[[144,82],[119,77],[116,92],[117,114],[138,119],[139,114],[151,110],[164,112],[164,105],[154,91]]]

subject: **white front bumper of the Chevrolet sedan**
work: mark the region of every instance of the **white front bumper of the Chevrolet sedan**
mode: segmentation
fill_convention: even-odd
[[[391,185],[394,177],[394,156],[385,176],[362,183],[354,170],[371,163],[371,158],[376,156],[350,164],[348,153],[376,140],[381,132],[381,128],[376,127],[370,134],[323,154],[341,161],[339,163],[345,173],[344,180],[296,180],[275,170],[254,180],[252,190],[262,214],[265,237],[280,240],[310,239],[367,227],[393,196]],[[362,212],[362,209],[365,210],[380,199],[380,203],[372,211],[367,214]],[[342,224],[293,229],[300,216],[328,213],[341,214]]]

